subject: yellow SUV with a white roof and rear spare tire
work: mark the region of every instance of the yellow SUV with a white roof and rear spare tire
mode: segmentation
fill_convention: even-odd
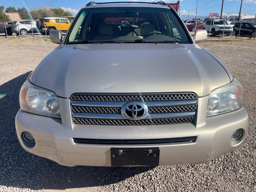
[[[43,17],[37,20],[38,30],[45,35],[50,35],[51,30],[61,30],[67,32],[71,22],[63,17]]]

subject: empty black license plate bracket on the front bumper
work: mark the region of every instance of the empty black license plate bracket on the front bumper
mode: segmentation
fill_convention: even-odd
[[[111,148],[111,166],[129,165],[158,166],[159,147],[149,148]]]

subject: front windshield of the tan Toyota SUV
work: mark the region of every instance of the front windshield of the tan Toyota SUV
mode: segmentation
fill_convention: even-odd
[[[84,9],[67,43],[190,43],[169,8],[104,7]]]

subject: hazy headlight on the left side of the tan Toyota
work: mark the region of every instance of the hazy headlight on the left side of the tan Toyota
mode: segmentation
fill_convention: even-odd
[[[54,92],[25,81],[20,89],[20,108],[37,115],[61,118]]]

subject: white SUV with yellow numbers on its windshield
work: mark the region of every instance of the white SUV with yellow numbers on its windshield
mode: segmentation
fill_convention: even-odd
[[[225,29],[224,29],[224,24],[225,24]],[[216,35],[222,35],[223,29],[224,29],[225,35],[228,36],[232,34],[232,26],[229,25],[227,21],[221,20],[221,19],[213,19],[212,22],[211,20],[206,20],[203,26],[203,29],[205,29],[208,33],[210,31],[212,37],[215,37]]]

